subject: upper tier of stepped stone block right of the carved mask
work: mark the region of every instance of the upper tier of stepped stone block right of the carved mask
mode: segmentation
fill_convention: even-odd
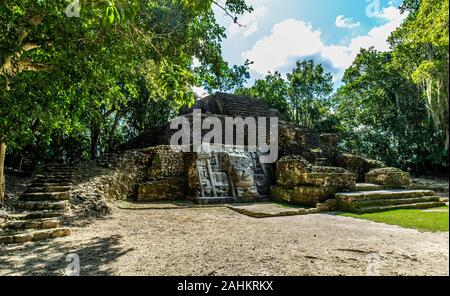
[[[356,186],[356,176],[343,168],[312,166],[294,156],[277,163],[277,184],[288,188],[306,185],[352,190]]]

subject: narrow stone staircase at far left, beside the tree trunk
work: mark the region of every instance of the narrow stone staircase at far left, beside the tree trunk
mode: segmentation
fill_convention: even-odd
[[[73,173],[70,165],[47,165],[25,193],[9,202],[15,214],[0,224],[0,244],[25,243],[70,234],[62,220],[70,199]]]

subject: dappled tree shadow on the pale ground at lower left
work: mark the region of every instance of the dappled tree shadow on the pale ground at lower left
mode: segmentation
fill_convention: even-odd
[[[0,275],[65,275],[72,260],[66,256],[76,254],[80,258],[80,275],[112,275],[111,262],[133,249],[119,246],[122,236],[92,238],[80,241],[73,247],[67,241],[30,243],[11,248],[0,247]],[[19,254],[27,254],[25,258]],[[64,254],[63,257],[60,257]],[[20,259],[20,260],[19,260]],[[5,272],[6,271],[6,272]]]

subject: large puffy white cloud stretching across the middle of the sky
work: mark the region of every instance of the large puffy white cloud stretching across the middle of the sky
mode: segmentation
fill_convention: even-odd
[[[389,6],[383,8],[376,17],[387,23],[372,28],[366,35],[355,37],[346,46],[325,45],[319,29],[301,20],[287,19],[276,24],[269,36],[257,41],[253,48],[243,52],[242,56],[253,61],[250,69],[261,75],[288,66],[294,57],[312,55],[320,55],[330,60],[333,67],[343,71],[352,64],[361,48],[373,46],[379,51],[388,50],[389,35],[400,26],[406,15]]]

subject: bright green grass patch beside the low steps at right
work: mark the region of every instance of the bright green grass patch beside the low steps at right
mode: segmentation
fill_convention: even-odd
[[[446,207],[430,209],[442,210]],[[448,217],[447,212],[426,212],[424,210],[394,210],[373,214],[341,214],[345,217],[353,217],[374,222],[399,225],[405,228],[414,228],[425,231],[448,231]]]

